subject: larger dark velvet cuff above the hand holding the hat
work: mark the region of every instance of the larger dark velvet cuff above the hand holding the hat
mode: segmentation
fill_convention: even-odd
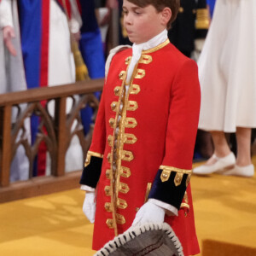
[[[170,177],[165,182],[160,179],[163,170],[159,170],[154,178],[154,183],[148,195],[148,198],[153,198],[159,201],[163,201],[167,204],[176,207],[178,210],[183,201],[183,196],[187,189],[186,180],[188,174],[183,174],[182,181],[179,185],[175,185],[174,179],[177,172],[171,172]]]

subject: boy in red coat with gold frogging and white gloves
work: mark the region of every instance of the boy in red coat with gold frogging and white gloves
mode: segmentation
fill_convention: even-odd
[[[133,226],[166,222],[199,253],[189,179],[200,85],[167,38],[179,0],[124,0],[132,48],[113,49],[81,177],[93,249]],[[109,67],[108,67],[109,66]]]

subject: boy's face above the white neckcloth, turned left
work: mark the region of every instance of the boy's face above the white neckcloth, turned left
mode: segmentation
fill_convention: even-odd
[[[157,13],[153,5],[141,8],[124,0],[123,11],[124,26],[131,43],[145,43],[166,28],[162,12]]]

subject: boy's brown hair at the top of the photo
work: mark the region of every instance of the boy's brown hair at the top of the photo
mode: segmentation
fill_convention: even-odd
[[[154,6],[154,8],[158,12],[162,11],[166,7],[169,7],[172,10],[172,17],[167,23],[167,29],[171,28],[172,21],[176,19],[178,9],[180,6],[180,0],[128,0],[128,1],[136,4],[141,8],[144,8],[149,4],[151,4]]]

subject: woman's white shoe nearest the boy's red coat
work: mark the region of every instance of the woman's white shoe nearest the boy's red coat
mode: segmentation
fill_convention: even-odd
[[[225,170],[232,168],[236,164],[236,157],[233,152],[230,152],[230,154],[224,157],[218,157],[215,154],[213,154],[212,157],[216,159],[214,164],[211,166],[202,165],[195,167],[193,173],[197,175],[206,175],[213,172],[222,173]]]

